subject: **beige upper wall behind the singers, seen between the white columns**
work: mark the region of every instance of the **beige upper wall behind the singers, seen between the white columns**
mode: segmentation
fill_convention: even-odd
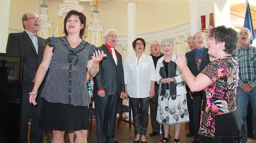
[[[47,16],[52,22],[52,34],[55,33],[58,22],[58,7],[62,1],[48,1]],[[89,4],[80,4],[84,7],[83,13],[90,23]],[[26,7],[22,8],[21,7]],[[137,0],[137,34],[164,30],[189,22],[188,1],[157,1]],[[35,11],[35,1],[12,0],[9,28],[23,30],[21,16],[27,12]],[[119,35],[127,34],[127,5],[126,0],[111,0],[100,2],[100,22],[104,31],[115,28]],[[103,32],[104,32],[103,31]]]

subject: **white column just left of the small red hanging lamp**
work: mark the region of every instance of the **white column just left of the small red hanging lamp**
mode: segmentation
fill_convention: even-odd
[[[190,0],[189,8],[190,8],[190,36],[194,36],[194,34],[200,31],[200,28],[201,28],[201,19],[199,15],[199,1]]]

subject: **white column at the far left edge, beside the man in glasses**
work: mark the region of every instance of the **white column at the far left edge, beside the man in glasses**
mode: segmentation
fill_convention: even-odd
[[[11,0],[0,0],[0,53],[6,52],[6,44],[9,35]]]

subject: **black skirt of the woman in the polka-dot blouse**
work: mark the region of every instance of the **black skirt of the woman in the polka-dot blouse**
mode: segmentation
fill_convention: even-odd
[[[89,129],[88,106],[51,103],[43,99],[39,127],[47,130],[79,131]]]

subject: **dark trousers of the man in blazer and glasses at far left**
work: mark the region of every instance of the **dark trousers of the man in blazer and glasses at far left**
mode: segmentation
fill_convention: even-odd
[[[32,87],[33,88],[33,87]],[[31,90],[32,90],[31,88]],[[41,107],[43,99],[38,95],[36,99],[36,106],[30,104],[28,101],[28,92],[22,93],[21,102],[21,130],[20,130],[20,143],[28,143],[27,140],[27,122],[31,118],[30,125],[30,143],[43,143],[43,129],[38,127],[38,121],[40,117]]]

